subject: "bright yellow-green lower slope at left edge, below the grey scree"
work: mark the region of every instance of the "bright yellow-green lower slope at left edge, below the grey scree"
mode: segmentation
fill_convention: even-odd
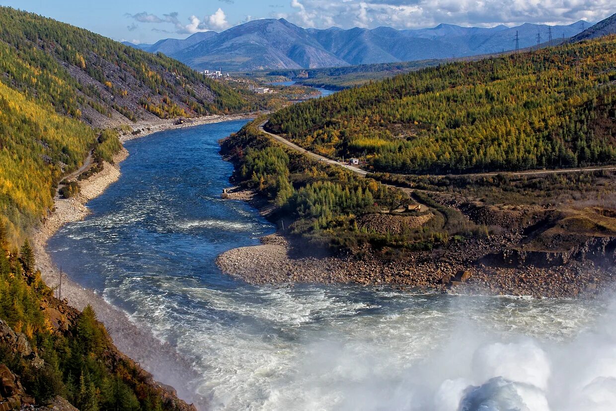
[[[60,176],[96,142],[86,124],[0,82],[0,227],[12,242],[51,208]]]

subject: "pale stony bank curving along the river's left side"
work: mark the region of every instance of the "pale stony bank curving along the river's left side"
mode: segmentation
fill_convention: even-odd
[[[121,136],[120,140],[124,143],[169,129],[252,117],[253,115],[205,116],[177,124],[172,120],[136,123],[133,126],[133,132],[137,132],[135,134],[126,133]],[[101,195],[107,187],[118,181],[120,163],[127,157],[128,151],[123,148],[113,158],[113,164],[105,161],[102,171],[79,182],[81,190],[75,197],[65,199],[56,195],[53,210],[31,235],[37,268],[49,287],[54,288],[59,285],[60,269],[55,266],[51,255],[46,250],[48,240],[65,224],[80,221],[90,213],[86,203]],[[73,176],[73,179],[75,177]],[[174,386],[180,398],[188,403],[192,402],[198,409],[206,408],[206,399],[195,394],[195,386],[190,382],[197,380],[198,373],[188,360],[177,354],[176,349],[170,344],[161,343],[152,335],[152,332],[131,322],[126,313],[109,304],[101,295],[81,287],[78,283],[67,279],[66,275],[62,277],[62,298],[67,299],[68,304],[79,311],[90,304],[121,352],[152,373],[156,380]]]

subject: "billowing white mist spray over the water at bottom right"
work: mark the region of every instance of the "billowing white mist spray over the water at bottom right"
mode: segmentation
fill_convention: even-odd
[[[466,308],[466,307],[465,307]],[[450,341],[400,363],[387,341],[328,335],[311,344],[301,386],[274,386],[270,410],[614,411],[616,309],[566,341],[489,333],[461,322]],[[408,335],[411,343],[414,336]]]

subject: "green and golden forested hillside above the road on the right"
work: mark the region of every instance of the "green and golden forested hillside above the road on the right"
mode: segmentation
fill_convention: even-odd
[[[378,171],[461,173],[616,161],[616,37],[396,76],[288,107],[271,131]]]

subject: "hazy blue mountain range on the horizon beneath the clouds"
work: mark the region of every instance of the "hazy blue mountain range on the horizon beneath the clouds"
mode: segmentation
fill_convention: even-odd
[[[131,44],[144,51],[161,52],[195,70],[246,71],[277,68],[342,67],[371,63],[444,59],[490,54],[529,47],[553,39],[570,38],[590,26],[580,20],[571,25],[525,23],[516,27],[461,27],[440,24],[419,30],[338,27],[301,28],[284,18],[253,20],[216,33],[196,33],[187,39],[163,39],[155,44]]]

